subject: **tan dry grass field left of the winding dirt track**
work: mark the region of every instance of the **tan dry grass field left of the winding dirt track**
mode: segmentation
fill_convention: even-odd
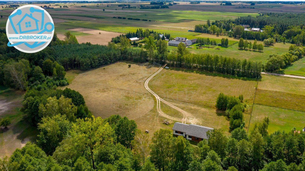
[[[157,71],[144,64],[118,62],[77,75],[68,86],[80,92],[95,116],[114,114],[135,119],[154,107],[154,99],[144,88],[145,80]],[[105,69],[104,69],[105,68]]]

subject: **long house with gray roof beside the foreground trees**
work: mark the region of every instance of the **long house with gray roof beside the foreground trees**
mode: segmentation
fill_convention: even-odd
[[[176,136],[180,135],[188,140],[199,142],[203,139],[208,140],[209,138],[207,137],[206,132],[214,129],[195,124],[183,124],[176,122],[172,130],[173,134]]]

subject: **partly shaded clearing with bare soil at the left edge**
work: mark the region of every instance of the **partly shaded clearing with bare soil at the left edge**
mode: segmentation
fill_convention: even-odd
[[[24,92],[0,86],[0,120],[9,117],[12,123],[0,128],[0,157],[12,155],[16,148],[22,148],[27,141],[35,142],[38,131],[23,120],[22,107]]]

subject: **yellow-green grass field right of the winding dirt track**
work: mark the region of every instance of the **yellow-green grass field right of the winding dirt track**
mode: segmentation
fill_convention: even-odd
[[[215,108],[218,94],[243,94],[245,101],[252,104],[256,83],[254,79],[173,68],[161,71],[149,82],[149,87],[161,98],[191,113],[201,125],[228,131],[227,117]],[[249,108],[244,113],[247,123],[250,112]]]

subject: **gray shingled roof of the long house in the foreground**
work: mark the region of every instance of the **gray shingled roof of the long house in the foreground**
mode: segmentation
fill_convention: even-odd
[[[208,139],[206,136],[206,132],[213,130],[213,128],[204,127],[204,126],[195,125],[195,124],[188,125],[188,124],[182,124],[182,123],[176,122],[174,124],[173,130],[185,132],[186,135],[191,135],[194,137]]]

